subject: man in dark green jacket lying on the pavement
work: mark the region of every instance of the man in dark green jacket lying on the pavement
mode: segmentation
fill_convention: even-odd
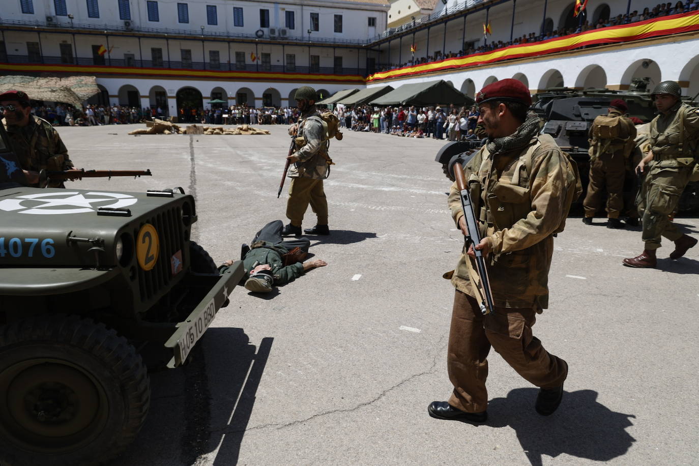
[[[314,259],[305,261],[310,247],[308,238],[284,241],[282,238],[284,224],[281,220],[271,221],[257,232],[250,246],[243,245],[240,253],[247,275],[241,284],[245,289],[257,293],[269,293],[273,285],[293,282],[296,277],[312,268],[328,265],[326,261]],[[233,260],[219,266],[224,272],[233,264]]]

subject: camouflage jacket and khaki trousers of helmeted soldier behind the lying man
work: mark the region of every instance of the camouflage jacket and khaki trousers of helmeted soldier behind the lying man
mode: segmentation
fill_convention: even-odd
[[[303,138],[303,139],[302,139]],[[298,122],[296,156],[298,162],[289,170],[291,184],[287,201],[287,218],[301,226],[308,205],[318,217],[317,224],[328,224],[328,201],[323,180],[329,175],[328,143],[319,112],[312,107]]]

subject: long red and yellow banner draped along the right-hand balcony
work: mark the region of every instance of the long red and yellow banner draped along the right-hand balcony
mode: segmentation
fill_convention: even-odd
[[[467,55],[466,57],[448,58],[415,66],[405,66],[370,75],[367,78],[367,82],[403,78],[433,71],[458,70],[459,68],[468,68],[514,58],[537,57],[565,50],[574,50],[584,45],[623,43],[691,31],[699,31],[699,11],[682,15],[664,16],[621,26],[592,29],[580,34],[556,37],[547,41],[510,45],[490,52]]]

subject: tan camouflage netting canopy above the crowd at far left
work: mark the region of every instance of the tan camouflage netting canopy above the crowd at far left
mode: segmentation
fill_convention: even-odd
[[[80,107],[82,102],[99,92],[94,76],[68,78],[36,78],[34,76],[1,76],[0,93],[10,90],[27,93],[29,99],[70,103]]]

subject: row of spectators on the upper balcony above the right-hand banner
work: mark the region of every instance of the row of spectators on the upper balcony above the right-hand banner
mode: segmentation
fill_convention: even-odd
[[[632,22],[651,20],[655,17],[662,17],[667,15],[677,15],[679,13],[687,13],[689,11],[699,10],[699,0],[677,0],[677,3],[673,6],[672,2],[668,3],[658,3],[653,8],[644,8],[642,13],[638,10],[633,10],[628,15],[617,15],[615,17],[603,18],[595,23],[591,24],[588,20],[582,21],[576,28],[564,28],[552,29],[550,31],[544,31],[540,34],[531,32],[525,34],[524,36],[513,38],[512,41],[489,41],[489,43],[480,45],[478,47],[470,47],[466,50],[459,50],[459,52],[446,52],[442,53],[440,51],[433,55],[428,55],[427,57],[413,57],[409,61],[403,64],[389,64],[380,66],[380,71],[388,71],[395,68],[403,68],[403,66],[414,66],[418,64],[425,64],[431,61],[440,61],[448,58],[456,57],[466,57],[467,55],[481,53],[481,52],[491,52],[499,48],[508,47],[510,45],[518,45],[522,43],[531,43],[539,41],[547,41],[556,37],[570,36],[572,34],[578,34],[580,32],[590,31],[591,29],[600,29],[603,27],[619,26],[621,24],[629,24]],[[584,14],[584,13],[583,13]],[[584,17],[584,16],[583,16]]]

